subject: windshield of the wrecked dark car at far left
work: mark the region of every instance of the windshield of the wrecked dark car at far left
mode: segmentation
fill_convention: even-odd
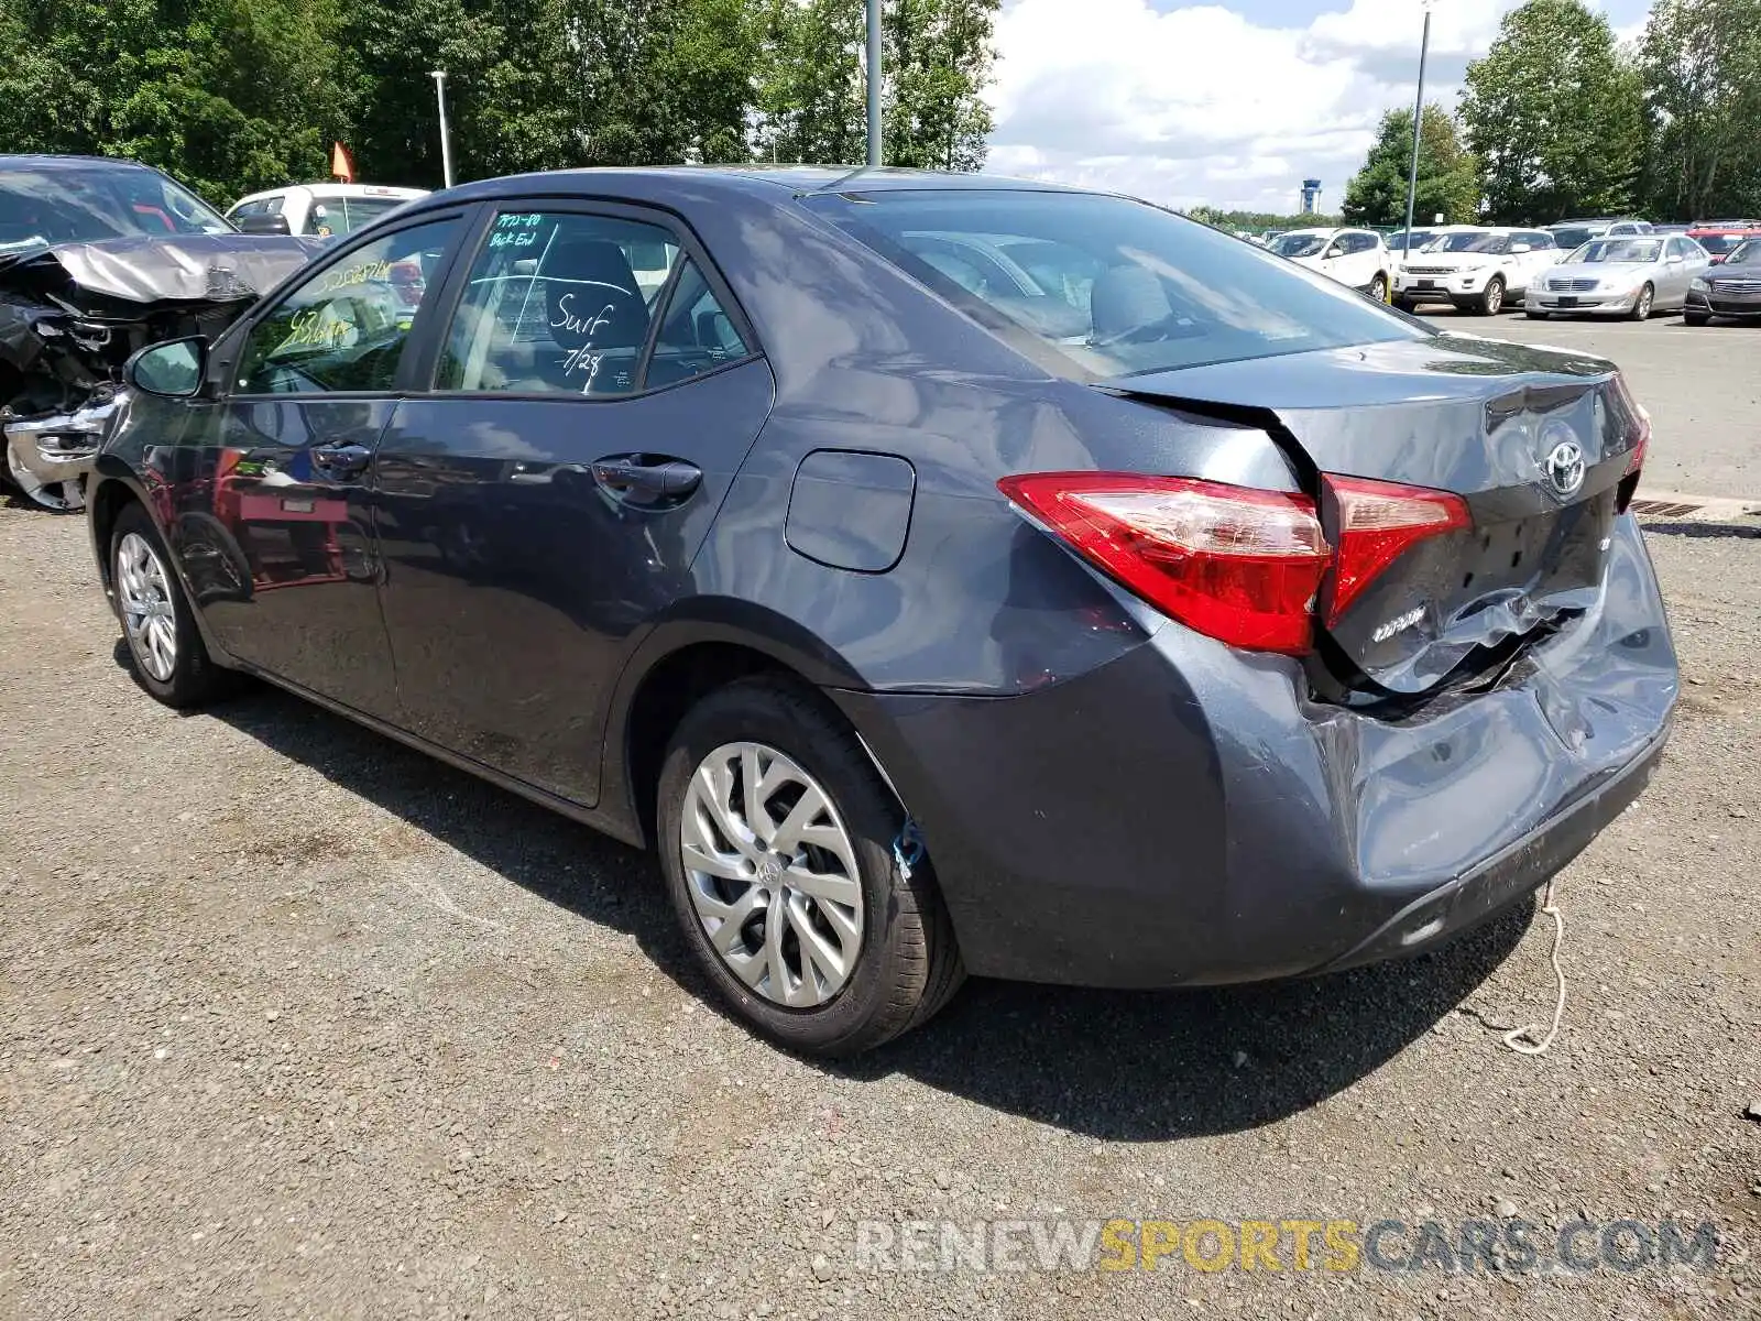
[[[0,254],[137,234],[231,232],[195,194],[139,166],[0,173]]]

